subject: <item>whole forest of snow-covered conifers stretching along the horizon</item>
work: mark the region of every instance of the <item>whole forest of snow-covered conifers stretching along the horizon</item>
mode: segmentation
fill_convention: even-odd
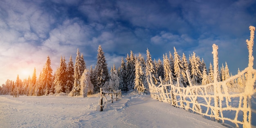
[[[16,81],[7,80],[5,84],[0,86],[0,94],[6,95],[27,95],[27,96],[42,96],[42,95],[70,95],[78,96],[99,92],[100,88],[104,90],[119,90],[124,92],[136,90],[137,92],[148,92],[148,83],[146,78],[153,78],[155,84],[159,84],[159,76],[165,84],[179,83],[186,88],[188,78],[191,79],[193,85],[206,85],[213,82],[213,66],[207,70],[204,60],[196,56],[195,52],[189,56],[189,61],[185,54],[182,57],[177,53],[174,47],[173,55],[171,52],[163,54],[163,59],[157,61],[152,60],[150,52],[146,50],[146,60],[139,54],[136,56],[133,52],[127,57],[121,59],[121,66],[118,68],[113,65],[108,72],[107,62],[104,52],[99,45],[97,54],[97,64],[94,68],[86,67],[83,59],[83,54],[80,54],[79,49],[76,52],[75,63],[72,56],[69,62],[66,63],[65,57],[61,56],[60,66],[53,74],[51,60],[47,56],[47,61],[40,72],[39,77],[36,76],[36,69],[33,75],[23,81],[17,76]],[[189,72],[189,73],[186,73]],[[238,69],[238,72],[240,70]],[[188,77],[187,74],[190,76]],[[230,77],[227,63],[225,67],[222,64],[220,72],[218,72],[218,81],[224,81]],[[242,76],[231,83],[245,86],[245,77]]]

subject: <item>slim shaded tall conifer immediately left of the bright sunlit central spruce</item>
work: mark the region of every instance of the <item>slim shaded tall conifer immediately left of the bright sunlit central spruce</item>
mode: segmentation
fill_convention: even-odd
[[[130,56],[127,54],[126,66],[126,85],[128,90],[132,90],[135,79],[135,57],[132,51],[130,52]]]

